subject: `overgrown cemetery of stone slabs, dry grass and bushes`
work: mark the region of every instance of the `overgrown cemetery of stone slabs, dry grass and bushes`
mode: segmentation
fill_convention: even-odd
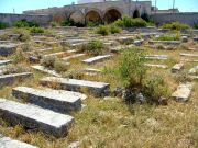
[[[198,30],[109,21],[0,30],[0,148],[198,146]]]

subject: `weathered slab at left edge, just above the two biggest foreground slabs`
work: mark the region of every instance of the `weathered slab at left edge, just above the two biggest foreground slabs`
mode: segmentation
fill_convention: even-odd
[[[16,80],[24,80],[32,76],[33,76],[32,72],[2,75],[2,76],[0,76],[0,87],[3,87],[6,84],[11,84]]]

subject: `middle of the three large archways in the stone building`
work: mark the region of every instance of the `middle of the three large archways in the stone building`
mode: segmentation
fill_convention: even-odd
[[[89,11],[86,14],[85,20],[86,20],[86,23],[92,22],[92,23],[99,24],[99,23],[102,22],[100,14],[97,11],[94,11],[94,10]]]

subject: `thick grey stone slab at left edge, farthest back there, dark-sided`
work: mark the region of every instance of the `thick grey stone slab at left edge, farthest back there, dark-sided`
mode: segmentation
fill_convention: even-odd
[[[12,55],[16,49],[16,45],[13,44],[1,44],[0,45],[0,55],[9,56]]]

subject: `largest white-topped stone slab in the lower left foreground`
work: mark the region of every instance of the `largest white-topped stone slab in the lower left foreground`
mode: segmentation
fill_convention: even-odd
[[[12,123],[31,129],[41,129],[54,136],[66,135],[74,117],[31,104],[22,104],[0,99],[0,116]]]

